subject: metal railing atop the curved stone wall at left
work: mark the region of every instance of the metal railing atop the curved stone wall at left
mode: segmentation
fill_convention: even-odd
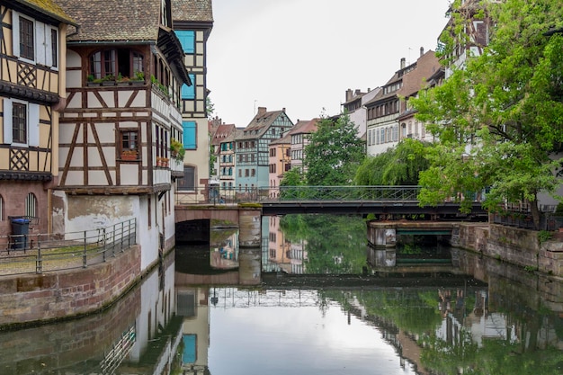
[[[0,236],[0,275],[86,268],[136,245],[137,221],[59,235]]]

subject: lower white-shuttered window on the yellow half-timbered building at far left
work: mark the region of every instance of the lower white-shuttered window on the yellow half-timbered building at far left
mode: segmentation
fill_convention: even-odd
[[[39,146],[39,104],[4,98],[4,144]]]

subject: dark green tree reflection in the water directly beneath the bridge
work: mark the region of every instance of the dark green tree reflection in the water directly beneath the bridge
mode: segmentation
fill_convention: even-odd
[[[287,215],[280,227],[286,239],[303,241],[308,273],[360,273],[366,263],[366,227],[345,215]]]

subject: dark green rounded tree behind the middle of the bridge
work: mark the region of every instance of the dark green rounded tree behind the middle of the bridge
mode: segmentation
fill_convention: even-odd
[[[348,114],[336,121],[323,119],[317,124],[305,147],[308,185],[346,185],[353,181],[365,157],[365,147]]]

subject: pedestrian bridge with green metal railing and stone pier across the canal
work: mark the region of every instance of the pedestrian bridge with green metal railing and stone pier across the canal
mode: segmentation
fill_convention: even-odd
[[[379,220],[487,220],[480,202],[472,201],[469,213],[460,213],[460,203],[444,201],[436,206],[421,207],[416,199],[418,186],[282,186],[255,189],[251,192],[214,191],[194,194],[201,201],[187,201],[190,196],[176,197],[176,240],[191,237],[197,228],[208,228],[210,220],[237,223],[240,246],[260,246],[263,216],[287,214],[375,215]],[[412,222],[412,221],[411,221]],[[412,228],[430,234],[427,228]],[[433,230],[436,230],[435,228]],[[203,230],[205,232],[205,230]],[[447,234],[449,229],[440,229]]]

